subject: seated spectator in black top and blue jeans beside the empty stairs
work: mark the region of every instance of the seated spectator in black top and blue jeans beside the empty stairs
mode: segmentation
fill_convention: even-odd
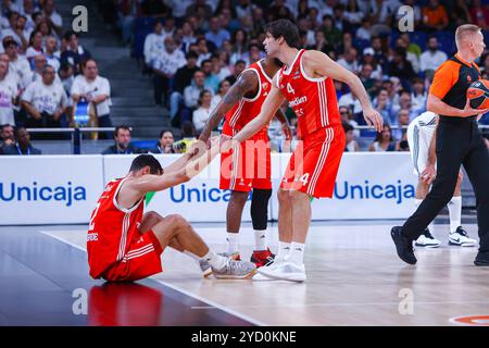
[[[181,66],[175,73],[173,78],[173,91],[170,96],[170,119],[173,121],[180,109],[184,89],[192,83],[193,74],[199,70],[197,67],[197,53],[190,51],[187,53],[187,65]]]

